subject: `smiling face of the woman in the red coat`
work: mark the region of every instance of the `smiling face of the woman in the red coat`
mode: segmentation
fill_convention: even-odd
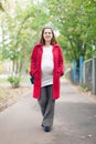
[[[51,29],[44,29],[43,38],[44,38],[45,42],[51,42],[51,40],[53,38],[52,30]]]

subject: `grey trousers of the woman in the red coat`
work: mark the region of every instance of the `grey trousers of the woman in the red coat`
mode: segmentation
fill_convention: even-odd
[[[55,101],[52,99],[52,96],[53,85],[41,88],[41,96],[39,99],[39,104],[43,115],[42,124],[44,126],[53,125]]]

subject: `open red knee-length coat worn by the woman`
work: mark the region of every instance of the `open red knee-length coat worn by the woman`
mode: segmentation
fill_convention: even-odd
[[[42,44],[36,44],[31,54],[30,75],[34,76],[33,97],[39,99],[41,92],[41,62],[43,48]],[[60,76],[64,74],[63,55],[60,45],[53,45],[53,100],[60,97]]]

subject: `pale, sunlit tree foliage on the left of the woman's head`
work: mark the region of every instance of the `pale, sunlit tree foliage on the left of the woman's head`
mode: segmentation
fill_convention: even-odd
[[[24,8],[17,1],[13,14],[10,7],[3,2],[4,13],[0,16],[0,28],[2,41],[0,42],[0,53],[2,60],[10,59],[13,62],[13,72],[21,72],[29,66],[30,55],[33,45],[39,42],[41,28],[46,23],[47,16],[44,6],[29,1]],[[17,69],[14,69],[17,68]],[[28,69],[28,68],[25,68]]]

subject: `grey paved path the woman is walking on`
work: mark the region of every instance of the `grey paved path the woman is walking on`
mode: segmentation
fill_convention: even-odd
[[[31,94],[0,113],[0,144],[96,144],[96,102],[62,80],[53,131],[43,132]]]

